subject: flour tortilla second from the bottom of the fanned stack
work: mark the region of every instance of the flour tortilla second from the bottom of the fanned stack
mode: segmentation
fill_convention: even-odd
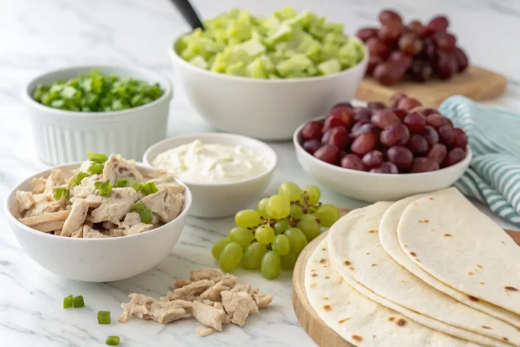
[[[330,259],[345,281],[369,299],[432,329],[486,346],[520,346],[515,327],[426,285],[384,251],[378,227],[391,204],[378,202],[355,210],[330,229]]]

